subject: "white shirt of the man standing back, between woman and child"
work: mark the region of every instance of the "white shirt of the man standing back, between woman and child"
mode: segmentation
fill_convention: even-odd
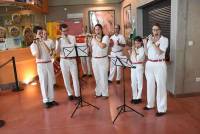
[[[122,46],[119,46],[117,44],[117,41],[119,41],[120,44],[126,44],[126,40],[124,38],[124,36],[122,34],[118,34],[118,35],[112,35],[110,37],[110,39],[113,40],[114,42],[114,45],[112,47],[112,52],[119,52],[119,51],[122,51],[123,47]]]

